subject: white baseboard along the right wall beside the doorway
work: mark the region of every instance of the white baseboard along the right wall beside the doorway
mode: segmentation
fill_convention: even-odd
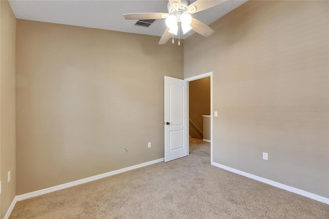
[[[325,204],[329,205],[329,198],[326,198],[326,197],[323,197],[323,196],[320,196],[320,195],[316,195],[316,194],[313,194],[313,193],[310,193],[310,192],[306,192],[304,190],[297,189],[297,188],[294,188],[294,187],[291,187],[291,186],[287,186],[287,185],[281,184],[279,182],[272,181],[272,180],[269,180],[269,179],[266,179],[266,178],[263,178],[263,177],[260,177],[260,176],[256,176],[256,175],[253,175],[253,174],[250,174],[250,173],[246,173],[246,172],[243,172],[243,171],[240,171],[240,170],[236,170],[234,168],[230,168],[230,167],[221,165],[221,164],[216,163],[216,162],[213,162],[212,165],[215,166],[215,167],[219,167],[219,168],[222,168],[224,170],[239,174],[239,175],[246,176],[248,178],[255,179],[257,181],[264,182],[268,185],[275,186],[275,187],[278,187],[280,189],[287,190],[289,192],[293,192],[293,193],[296,193],[296,194],[299,194],[299,195],[302,195],[302,196],[305,196],[305,197],[308,197],[308,198],[312,198],[314,200],[317,200],[319,202],[322,202],[322,203],[325,203]]]

